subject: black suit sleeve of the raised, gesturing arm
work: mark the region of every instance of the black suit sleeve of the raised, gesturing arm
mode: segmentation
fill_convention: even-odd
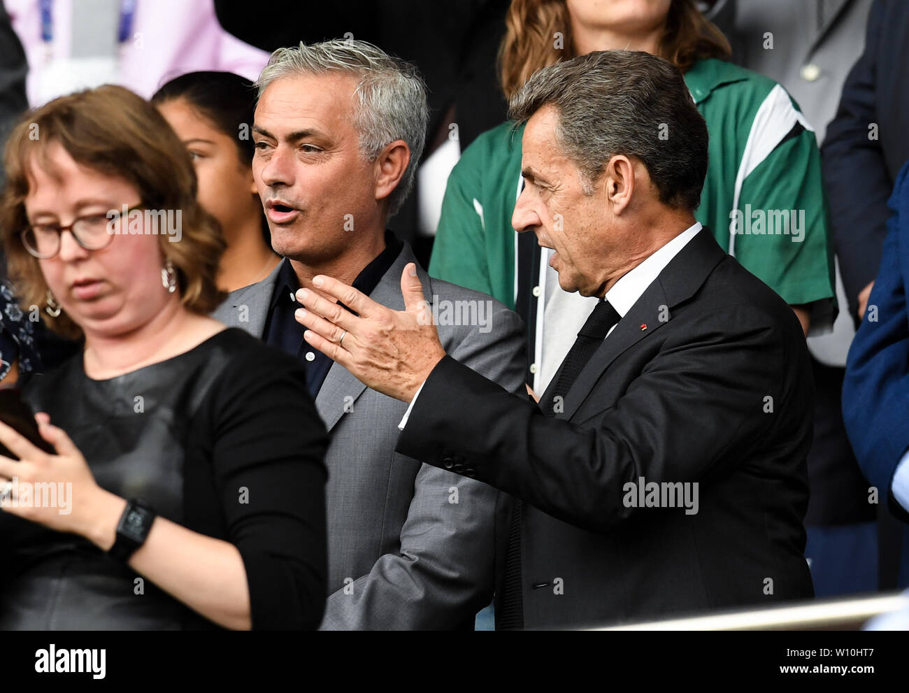
[[[397,449],[440,467],[460,464],[552,517],[608,532],[637,512],[624,505],[625,484],[698,481],[744,458],[773,425],[765,397],[779,411],[788,395],[777,389],[779,373],[795,356],[784,353],[770,317],[729,306],[673,338],[589,425],[546,417],[445,357]]]

